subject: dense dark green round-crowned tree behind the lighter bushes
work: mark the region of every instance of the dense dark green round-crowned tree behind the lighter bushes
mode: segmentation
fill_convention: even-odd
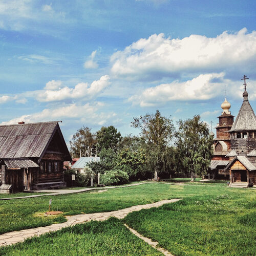
[[[111,125],[108,127],[102,126],[96,133],[97,138],[97,153],[105,148],[106,150],[111,148],[115,153],[118,150],[118,144],[122,140],[122,136],[117,129]]]

